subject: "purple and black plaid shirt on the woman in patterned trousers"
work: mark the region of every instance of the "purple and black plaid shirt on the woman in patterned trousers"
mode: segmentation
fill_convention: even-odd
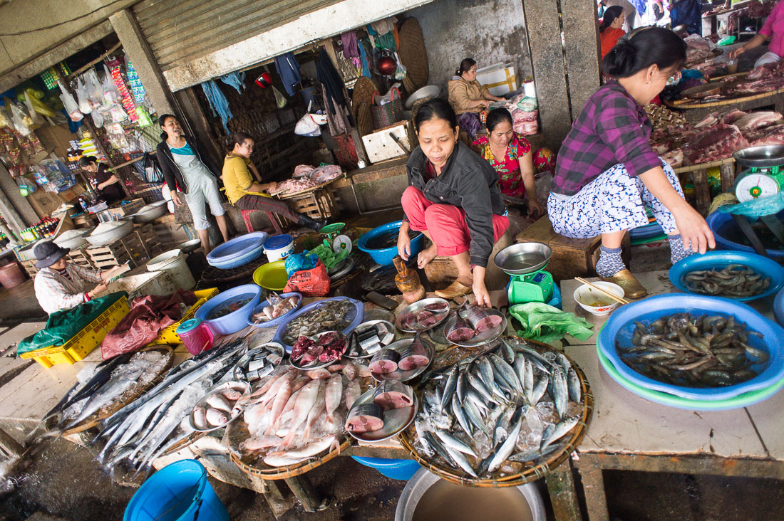
[[[659,156],[648,143],[651,130],[643,107],[619,83],[608,82],[590,96],[558,150],[552,191],[577,194],[619,163],[631,177],[661,168]]]

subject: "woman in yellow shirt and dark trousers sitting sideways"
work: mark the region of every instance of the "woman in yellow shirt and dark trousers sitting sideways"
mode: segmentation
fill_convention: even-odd
[[[229,202],[241,210],[261,210],[275,212],[289,219],[299,226],[306,226],[312,230],[321,230],[325,223],[310,219],[307,215],[293,212],[285,201],[273,199],[265,194],[273,189],[277,183],[261,183],[261,175],[256,166],[250,161],[253,153],[253,139],[245,132],[234,132],[229,143],[230,152],[223,161],[223,186],[226,187],[226,196]],[[251,175],[251,171],[253,175]],[[254,179],[255,178],[255,179]]]

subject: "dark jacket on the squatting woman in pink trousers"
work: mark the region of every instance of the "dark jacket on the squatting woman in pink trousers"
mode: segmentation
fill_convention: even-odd
[[[488,161],[461,142],[441,174],[425,183],[426,161],[422,149],[416,147],[406,164],[408,184],[421,190],[428,201],[453,204],[466,212],[471,264],[487,267],[494,239],[492,216],[506,212],[498,174]]]

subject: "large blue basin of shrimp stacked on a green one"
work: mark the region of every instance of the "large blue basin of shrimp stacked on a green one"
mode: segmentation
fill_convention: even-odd
[[[678,310],[678,311],[676,311]],[[768,353],[768,360],[751,365],[757,376],[723,387],[688,387],[648,378],[626,365],[616,346],[632,346],[635,323],[650,324],[673,313],[735,317],[749,331],[748,344]],[[615,310],[597,336],[597,352],[604,370],[619,385],[647,400],[692,411],[725,411],[746,407],[772,396],[784,386],[784,329],[754,309],[728,298],[669,293],[632,302]],[[750,356],[751,360],[754,360]]]

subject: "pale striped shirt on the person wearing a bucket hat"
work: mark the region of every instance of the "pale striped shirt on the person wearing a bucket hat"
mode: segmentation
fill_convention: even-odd
[[[35,297],[46,313],[54,313],[60,309],[71,309],[82,302],[87,302],[85,291],[90,282],[100,283],[100,271],[77,266],[68,262],[65,266],[66,276],[44,268],[35,274]]]

